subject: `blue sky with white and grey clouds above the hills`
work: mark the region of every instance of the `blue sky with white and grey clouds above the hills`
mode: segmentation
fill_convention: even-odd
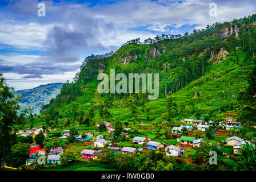
[[[0,72],[17,90],[72,81],[92,53],[255,13],[254,0],[1,0]]]

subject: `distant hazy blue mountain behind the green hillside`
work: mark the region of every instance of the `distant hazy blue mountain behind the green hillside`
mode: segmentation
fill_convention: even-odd
[[[20,94],[23,97],[23,100],[19,102],[21,109],[32,107],[33,113],[39,114],[41,107],[49,104],[50,100],[61,92],[62,85],[63,83],[40,85],[33,89],[17,90],[15,94]]]

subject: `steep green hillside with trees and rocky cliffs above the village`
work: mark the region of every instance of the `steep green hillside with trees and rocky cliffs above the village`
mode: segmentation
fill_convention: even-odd
[[[86,57],[73,82],[42,107],[37,122],[49,127],[99,121],[162,124],[185,117],[238,118],[256,51],[256,15],[215,23],[193,34],[130,40],[115,52]],[[97,75],[159,73],[159,99],[147,94],[98,94]],[[250,93],[252,96],[253,92]],[[253,106],[254,107],[254,106]],[[68,123],[58,118],[68,118]],[[72,122],[71,122],[72,121]],[[45,123],[46,122],[46,123]]]

